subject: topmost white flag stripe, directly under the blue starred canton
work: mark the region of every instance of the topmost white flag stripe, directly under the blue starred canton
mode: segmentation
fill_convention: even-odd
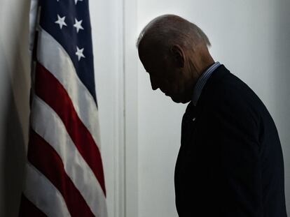
[[[45,30],[39,30],[37,58],[69,93],[74,109],[100,149],[99,114],[92,95],[76,74],[69,54]]]

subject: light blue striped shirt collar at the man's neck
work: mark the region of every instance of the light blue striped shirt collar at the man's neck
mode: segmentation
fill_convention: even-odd
[[[195,84],[194,91],[193,91],[193,105],[196,105],[198,103],[198,99],[200,98],[200,94],[202,93],[203,87],[205,87],[205,84],[207,83],[207,80],[209,79],[210,75],[218,68],[221,66],[221,63],[216,62],[212,64],[205,73],[202,73],[200,78],[198,79],[198,82]]]

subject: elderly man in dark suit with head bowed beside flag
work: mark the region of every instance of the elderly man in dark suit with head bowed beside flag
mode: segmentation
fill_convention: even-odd
[[[179,216],[285,217],[284,163],[274,121],[256,94],[209,54],[209,39],[176,15],[137,41],[152,89],[188,103],[175,167]]]

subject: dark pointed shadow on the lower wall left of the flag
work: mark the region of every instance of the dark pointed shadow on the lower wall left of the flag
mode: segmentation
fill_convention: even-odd
[[[12,89],[8,90],[6,120],[4,132],[4,148],[1,155],[4,157],[1,170],[3,171],[4,184],[4,215],[18,216],[18,207],[20,204],[20,195],[24,177],[25,166],[25,139],[20,124],[18,109],[15,105],[15,99]]]

